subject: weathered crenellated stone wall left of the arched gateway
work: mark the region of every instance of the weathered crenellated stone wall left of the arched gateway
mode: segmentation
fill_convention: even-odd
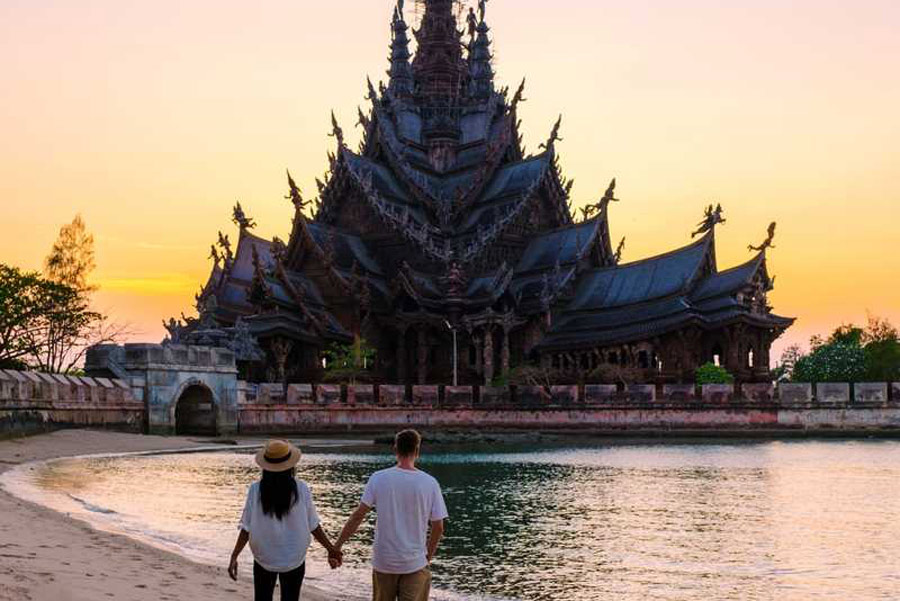
[[[0,436],[58,428],[144,430],[141,390],[119,379],[0,370]]]

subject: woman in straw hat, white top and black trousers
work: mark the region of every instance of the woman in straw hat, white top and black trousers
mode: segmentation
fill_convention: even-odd
[[[228,575],[237,580],[237,558],[250,541],[253,552],[255,601],[272,601],[275,581],[281,581],[281,601],[298,601],[306,573],[310,534],[328,550],[335,568],[341,554],[319,525],[309,486],[294,476],[300,449],[284,440],[270,440],[256,454],[262,478],[250,485],[231,553]]]

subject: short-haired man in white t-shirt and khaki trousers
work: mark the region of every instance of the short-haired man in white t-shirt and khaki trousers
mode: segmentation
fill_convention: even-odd
[[[427,601],[431,590],[429,566],[444,535],[447,507],[437,480],[416,469],[421,444],[415,430],[397,434],[397,465],[369,478],[362,502],[335,545],[340,553],[366,515],[375,510],[373,601]]]

